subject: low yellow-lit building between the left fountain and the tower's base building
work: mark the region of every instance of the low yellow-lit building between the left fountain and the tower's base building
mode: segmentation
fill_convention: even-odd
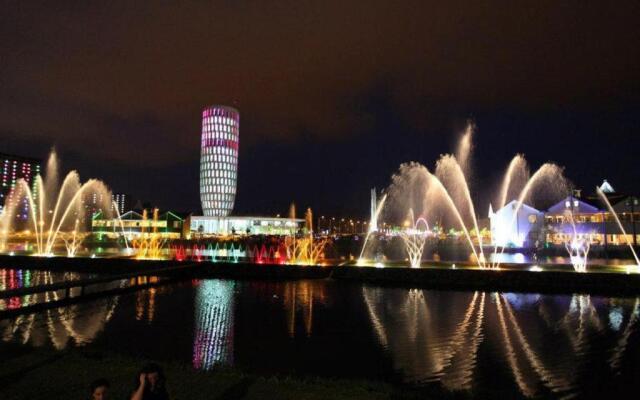
[[[158,217],[153,217],[153,210],[127,211],[120,218],[105,218],[99,211],[91,220],[91,232],[100,240],[104,237],[117,239],[125,236],[132,240],[143,236],[145,233],[157,233],[164,239],[182,238],[185,216],[172,211],[158,212]]]

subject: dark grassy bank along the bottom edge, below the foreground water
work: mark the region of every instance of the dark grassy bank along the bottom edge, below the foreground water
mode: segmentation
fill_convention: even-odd
[[[127,399],[145,360],[82,349],[48,351],[3,347],[0,399],[84,399],[97,378],[111,382],[110,399]],[[386,383],[326,378],[263,377],[234,369],[194,371],[162,363],[172,399],[400,399],[453,398],[436,389],[398,388]],[[435,390],[435,391],[434,391]]]

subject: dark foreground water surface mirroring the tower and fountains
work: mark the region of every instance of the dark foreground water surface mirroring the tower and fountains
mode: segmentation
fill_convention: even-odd
[[[493,398],[634,398],[639,318],[640,298],[212,279],[0,321],[0,349],[88,346]]]

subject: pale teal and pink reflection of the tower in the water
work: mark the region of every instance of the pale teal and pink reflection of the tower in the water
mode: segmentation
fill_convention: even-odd
[[[233,362],[233,281],[204,280],[195,300],[193,367]]]

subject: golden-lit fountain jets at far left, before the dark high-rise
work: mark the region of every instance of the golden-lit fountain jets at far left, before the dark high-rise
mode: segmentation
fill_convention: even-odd
[[[67,255],[74,256],[82,240],[87,207],[109,212],[111,193],[102,181],[90,179],[80,182],[76,171],[69,172],[58,187],[58,159],[52,151],[47,162],[47,175],[36,176],[32,187],[24,180],[17,181],[8,198],[14,201],[0,214],[0,251],[8,249],[9,241],[24,233],[34,245],[38,256],[54,255],[59,239],[66,243]],[[29,204],[26,224],[16,219],[16,209],[24,200]],[[90,205],[87,200],[90,200]]]

